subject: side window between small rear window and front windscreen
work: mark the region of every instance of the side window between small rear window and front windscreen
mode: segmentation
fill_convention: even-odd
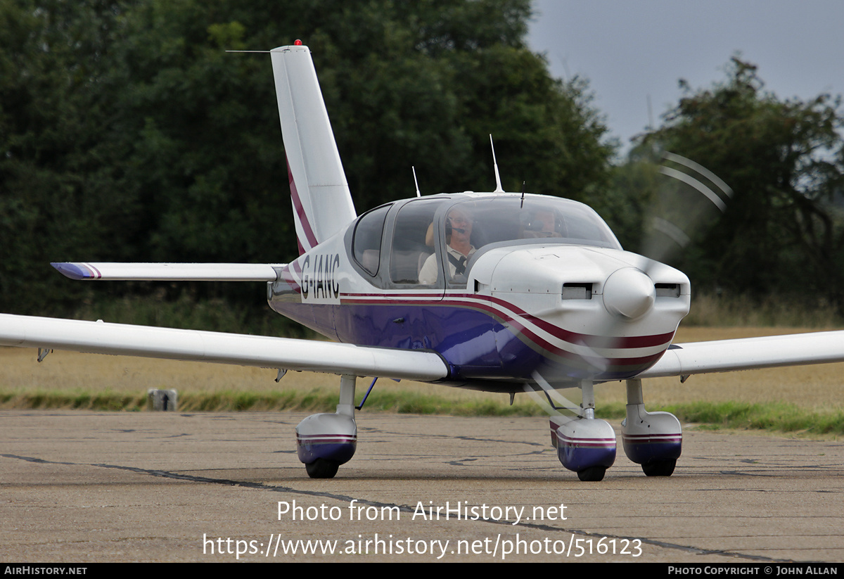
[[[419,280],[419,271],[434,253],[434,214],[445,202],[445,199],[419,199],[398,210],[390,256],[392,283],[425,284]]]

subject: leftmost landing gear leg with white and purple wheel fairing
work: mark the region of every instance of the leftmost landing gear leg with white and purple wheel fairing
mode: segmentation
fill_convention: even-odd
[[[296,451],[311,479],[333,479],[341,464],[354,456],[358,427],[354,423],[357,376],[340,377],[340,403],[335,414],[311,414],[296,426]]]

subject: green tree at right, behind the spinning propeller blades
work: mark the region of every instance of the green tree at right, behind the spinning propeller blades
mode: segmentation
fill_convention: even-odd
[[[645,245],[660,184],[655,154],[681,154],[734,193],[726,211],[693,230],[692,243],[674,260],[693,288],[844,311],[841,97],[782,100],[764,86],[757,67],[739,57],[710,88],[681,80],[679,104],[614,171],[618,229],[629,246]]]

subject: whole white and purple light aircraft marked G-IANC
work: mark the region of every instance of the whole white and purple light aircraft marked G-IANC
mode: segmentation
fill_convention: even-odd
[[[286,264],[55,263],[72,279],[267,283],[270,307],[340,343],[0,315],[0,345],[253,365],[340,376],[337,412],[296,428],[299,458],[331,478],[354,455],[359,376],[490,392],[577,387],[574,415],[554,413],[560,462],[601,480],[616,453],[594,418],[593,385],[625,380],[625,453],[669,476],[682,433],[646,411],[641,380],[844,360],[844,332],[672,344],[689,279],[622,250],[591,208],[495,192],[417,197],[358,216],[311,53],[270,51],[300,256]]]

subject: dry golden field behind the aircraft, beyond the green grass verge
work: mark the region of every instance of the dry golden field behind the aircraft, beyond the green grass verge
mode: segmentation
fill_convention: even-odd
[[[810,331],[775,327],[681,327],[676,341],[694,342]],[[60,351],[53,352],[41,363],[35,359],[34,349],[0,348],[0,392],[111,391],[138,394],[154,387],[176,388],[180,393],[337,388],[335,376],[307,372],[289,372],[277,384],[273,381],[275,371],[241,366]],[[360,381],[359,389],[367,386],[364,381]],[[844,408],[844,364],[692,376],[684,384],[680,384],[678,378],[663,378],[645,381],[643,386],[649,409],[659,409],[668,403],[699,400],[750,403],[782,401],[806,409]],[[504,398],[501,394],[457,390],[411,381],[381,381],[378,387],[436,394],[454,400]],[[596,394],[598,406],[608,402],[624,403],[625,387],[620,382],[604,384],[596,390]]]

